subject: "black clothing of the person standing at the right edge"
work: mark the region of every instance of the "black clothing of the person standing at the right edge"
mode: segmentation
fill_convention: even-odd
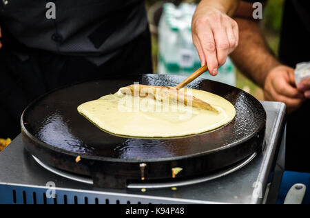
[[[244,0],[256,2],[256,0]],[[296,68],[310,61],[310,1],[286,0],[282,19],[279,59]],[[287,117],[287,170],[310,172],[310,100]]]

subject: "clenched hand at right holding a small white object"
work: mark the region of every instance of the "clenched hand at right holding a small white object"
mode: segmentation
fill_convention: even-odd
[[[264,90],[267,101],[286,103],[289,113],[298,110],[304,101],[303,93],[296,88],[294,69],[287,66],[278,66],[269,72]]]

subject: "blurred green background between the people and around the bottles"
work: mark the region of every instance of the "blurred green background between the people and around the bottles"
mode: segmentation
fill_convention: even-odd
[[[262,21],[260,22],[260,26],[262,32],[265,34],[267,39],[267,43],[269,44],[271,50],[275,54],[278,54],[278,45],[279,45],[279,36],[282,24],[282,9],[285,0],[269,0],[267,2],[267,6],[264,8],[264,16]],[[158,0],[146,0],[147,9],[149,11],[150,20],[154,21],[154,11],[152,9],[156,8],[156,4],[160,4],[163,1]],[[164,2],[172,2],[178,5],[179,3],[188,2],[188,3],[198,3],[198,0],[171,0]],[[152,15],[151,15],[152,14]],[[151,17],[152,16],[152,17]],[[156,20],[156,19],[155,19]],[[151,21],[151,31],[152,31],[152,56],[154,63],[154,72],[156,72],[157,68],[157,60],[158,60],[158,43],[156,37],[156,29],[152,26]],[[259,100],[263,100],[263,93],[260,88],[258,88],[253,82],[249,81],[242,73],[237,70],[236,74],[238,88],[241,88],[251,95],[254,95]]]

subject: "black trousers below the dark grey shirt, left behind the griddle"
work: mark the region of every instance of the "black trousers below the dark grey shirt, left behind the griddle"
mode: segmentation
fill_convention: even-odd
[[[17,137],[21,132],[19,120],[25,107],[50,90],[111,75],[152,73],[149,30],[101,66],[84,57],[29,48],[21,50],[26,54],[25,60],[17,55],[19,51],[6,46],[6,41],[0,50],[0,138]]]

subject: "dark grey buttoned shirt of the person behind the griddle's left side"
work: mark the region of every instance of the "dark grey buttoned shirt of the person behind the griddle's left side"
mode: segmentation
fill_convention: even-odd
[[[7,31],[28,48],[81,55],[99,64],[147,28],[143,0],[54,1],[56,19],[46,17],[48,0],[2,1],[3,35]]]

